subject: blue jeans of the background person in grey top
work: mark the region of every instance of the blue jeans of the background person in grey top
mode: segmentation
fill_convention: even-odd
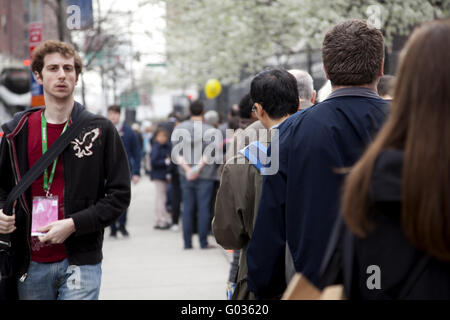
[[[214,180],[197,179],[188,181],[180,176],[183,194],[183,222],[184,247],[192,248],[192,233],[194,229],[194,215],[197,204],[197,231],[200,238],[200,247],[208,246],[208,233],[210,230],[210,205],[213,193]]]

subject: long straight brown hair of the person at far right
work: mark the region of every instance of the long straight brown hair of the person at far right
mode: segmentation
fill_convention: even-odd
[[[391,114],[344,184],[350,230],[371,229],[368,190],[382,150],[404,151],[401,224],[420,250],[450,260],[450,20],[425,23],[401,53]]]

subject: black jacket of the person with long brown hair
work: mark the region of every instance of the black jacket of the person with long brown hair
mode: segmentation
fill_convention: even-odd
[[[354,238],[350,299],[397,299],[424,252],[406,238],[401,226],[403,152],[385,150],[374,167],[368,216],[374,229]],[[369,266],[378,266],[381,288],[370,290]],[[373,272],[372,272],[373,273]],[[431,258],[404,299],[450,299],[450,263]],[[349,288],[346,288],[349,291]]]

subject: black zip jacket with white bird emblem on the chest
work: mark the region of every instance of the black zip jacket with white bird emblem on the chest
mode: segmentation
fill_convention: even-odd
[[[40,108],[16,114],[2,126],[0,145],[0,208],[15,181],[28,168],[28,117]],[[71,118],[77,122],[88,112],[75,102]],[[61,153],[64,168],[64,215],[75,223],[75,232],[64,242],[69,264],[97,264],[102,260],[104,228],[118,218],[130,203],[130,170],[125,150],[114,125],[93,115],[77,139]],[[12,233],[16,275],[24,275],[30,263],[31,192],[16,205],[16,227]]]

